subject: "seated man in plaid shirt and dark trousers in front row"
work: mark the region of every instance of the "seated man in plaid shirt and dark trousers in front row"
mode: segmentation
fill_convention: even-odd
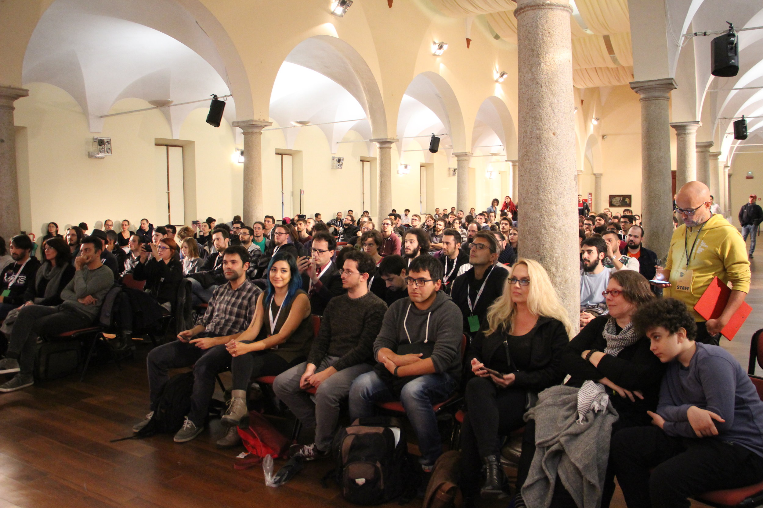
[[[227,282],[217,286],[212,293],[201,323],[191,330],[180,332],[178,340],[155,347],[148,353],[146,363],[151,412],[146,415],[146,420],[133,427],[134,432],[146,427],[153,416],[159,394],[169,379],[167,371],[188,366],[194,366],[191,412],[185,417],[182,429],[175,434],[175,443],[190,441],[204,430],[204,418],[207,417],[209,401],[214,394],[214,376],[230,368],[231,356],[225,349],[225,344],[249,326],[261,292],[246,279],[249,254],[243,246],[226,248],[220,257]],[[233,436],[230,432],[217,442],[222,447],[237,443],[238,433]]]

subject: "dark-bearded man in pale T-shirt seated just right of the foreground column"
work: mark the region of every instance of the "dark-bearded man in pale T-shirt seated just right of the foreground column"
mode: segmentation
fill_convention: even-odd
[[[610,283],[612,268],[602,264],[607,255],[607,242],[593,236],[581,242],[583,270],[580,270],[580,327],[607,313],[604,289]]]

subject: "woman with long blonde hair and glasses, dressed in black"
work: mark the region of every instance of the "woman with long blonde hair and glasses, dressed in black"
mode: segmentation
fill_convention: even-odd
[[[487,321],[466,355],[474,377],[464,397],[461,466],[462,490],[471,498],[507,495],[499,436],[523,427],[537,393],[562,382],[559,363],[572,331],[549,274],[523,258],[512,267]],[[523,456],[520,462],[532,459]]]

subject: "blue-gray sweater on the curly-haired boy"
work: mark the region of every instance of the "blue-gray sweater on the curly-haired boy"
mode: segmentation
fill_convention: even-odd
[[[763,401],[739,362],[722,347],[697,342],[688,368],[678,360],[668,364],[657,405],[668,436],[699,439],[687,417],[691,406],[726,420],[713,420],[718,436],[702,439],[731,441],[763,456]]]

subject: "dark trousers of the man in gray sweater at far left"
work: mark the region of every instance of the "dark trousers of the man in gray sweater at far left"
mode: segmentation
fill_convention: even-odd
[[[21,374],[34,370],[34,346],[40,335],[55,336],[65,331],[89,327],[93,318],[73,309],[27,305],[18,312],[8,340],[8,358],[18,359]]]

